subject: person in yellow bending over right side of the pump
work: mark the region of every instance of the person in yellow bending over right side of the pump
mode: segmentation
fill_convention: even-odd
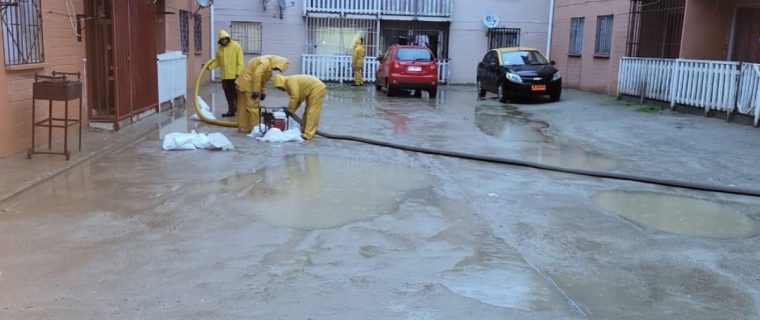
[[[306,101],[301,137],[304,140],[314,139],[319,126],[319,116],[322,113],[322,100],[327,94],[327,86],[316,77],[304,74],[294,76],[276,74],[272,78],[272,85],[288,93],[290,97],[288,111],[291,113],[295,113],[301,102]]]

